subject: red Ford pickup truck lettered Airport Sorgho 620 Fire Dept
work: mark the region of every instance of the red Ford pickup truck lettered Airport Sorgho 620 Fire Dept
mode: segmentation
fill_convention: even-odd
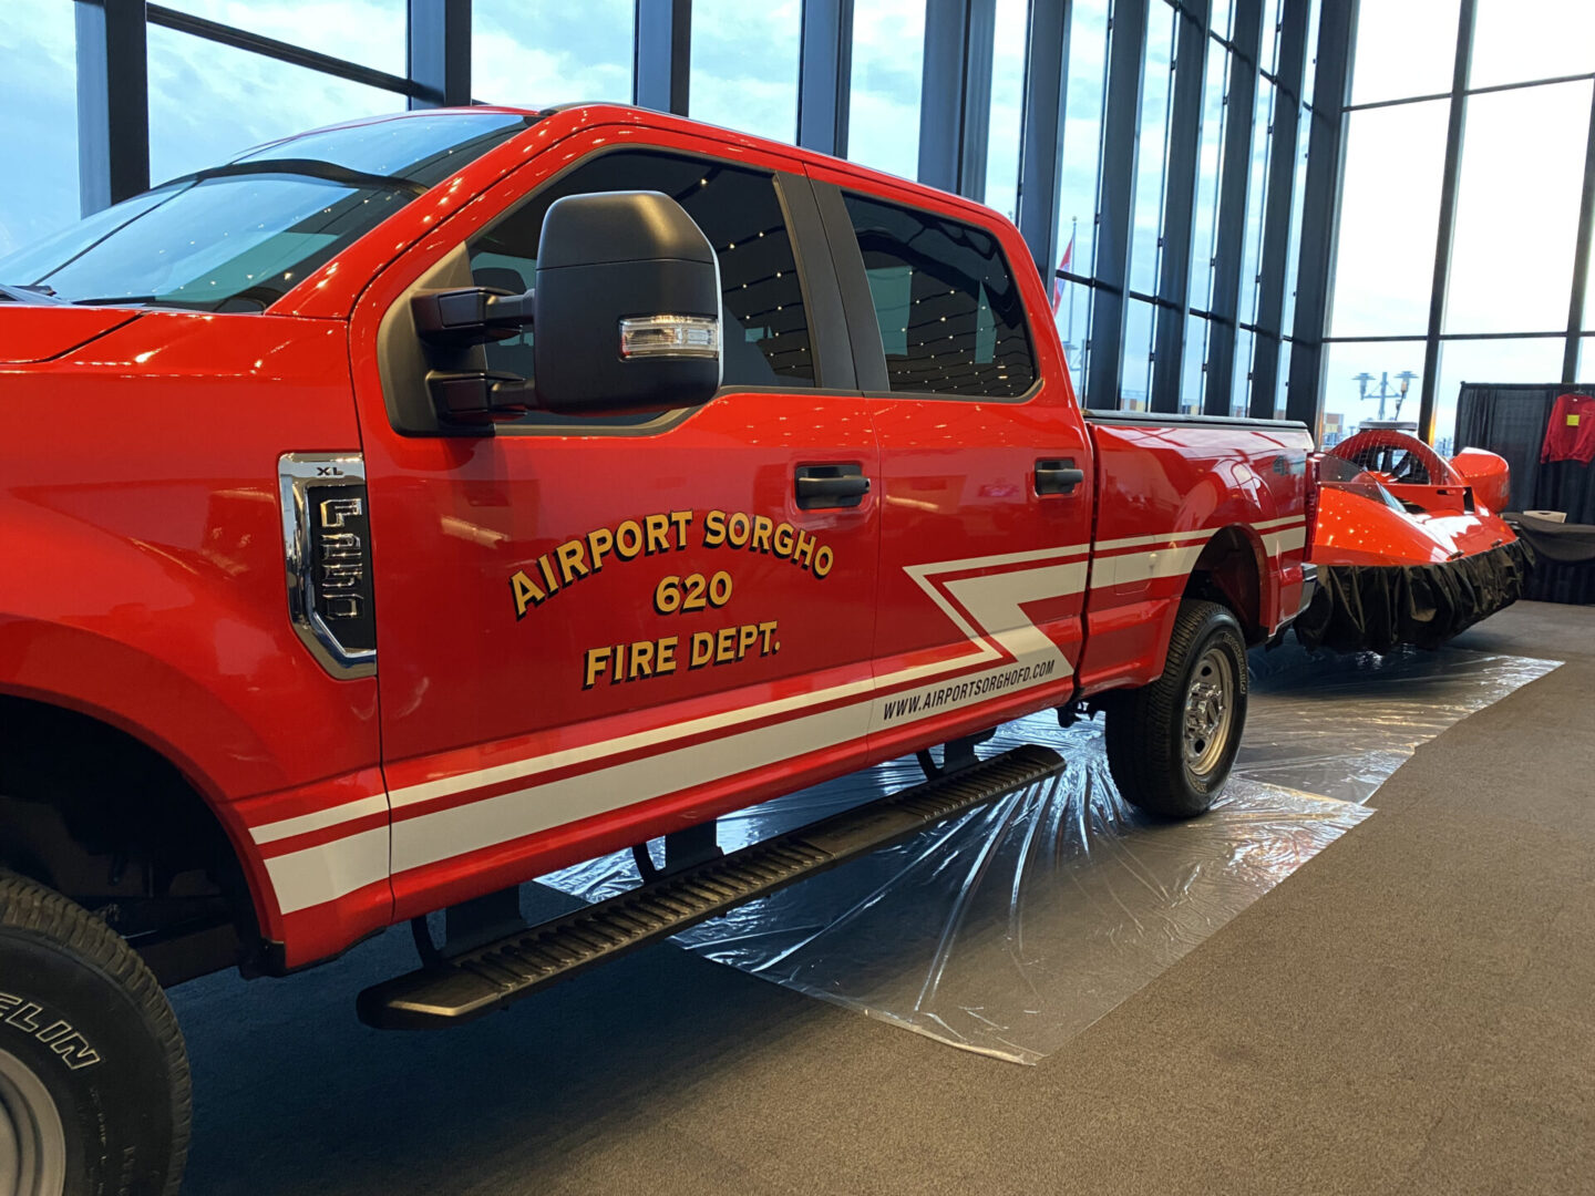
[[[1048,708],[1199,813],[1311,587],[1309,450],[1080,410],[994,212],[627,107],[309,132],[0,262],[14,1190],[175,1190],[163,986],[207,971],[408,920],[367,1021],[501,1008],[1061,767],[975,749]],[[518,923],[625,847],[635,895]]]

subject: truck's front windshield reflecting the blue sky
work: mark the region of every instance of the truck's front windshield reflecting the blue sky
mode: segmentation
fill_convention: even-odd
[[[533,116],[394,116],[174,179],[0,258],[0,301],[265,311],[295,282]]]

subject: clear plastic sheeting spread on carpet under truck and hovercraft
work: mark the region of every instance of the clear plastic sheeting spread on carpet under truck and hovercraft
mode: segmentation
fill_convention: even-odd
[[[1426,738],[1555,668],[1445,649],[1254,652],[1236,773],[1214,808],[1160,823],[1113,788],[1102,724],[1035,714],[981,754],[1043,743],[1067,769],[895,847],[679,934],[708,958],[968,1051],[1034,1064],[1373,812]],[[924,780],[892,761],[721,821],[735,850]],[[544,877],[598,901],[630,853]]]

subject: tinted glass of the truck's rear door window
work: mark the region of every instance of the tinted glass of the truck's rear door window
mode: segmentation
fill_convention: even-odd
[[[1013,399],[1035,381],[1024,303],[997,238],[845,195],[893,391]]]

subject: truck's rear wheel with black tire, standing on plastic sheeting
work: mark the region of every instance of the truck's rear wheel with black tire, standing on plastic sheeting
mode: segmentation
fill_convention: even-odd
[[[1185,601],[1163,676],[1107,711],[1107,764],[1128,802],[1191,818],[1219,796],[1246,727],[1246,638],[1228,609]]]

